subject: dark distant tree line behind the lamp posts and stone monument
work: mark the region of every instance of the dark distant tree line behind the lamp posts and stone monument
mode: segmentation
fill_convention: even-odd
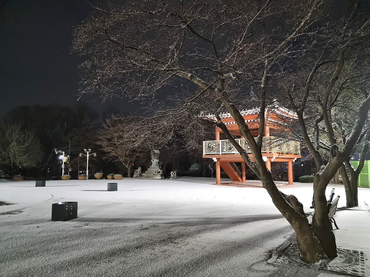
[[[125,113],[98,114],[83,103],[75,105],[19,106],[0,120],[0,178],[60,179],[61,161],[54,149],[69,156],[64,174],[77,178],[85,173],[84,148],[97,153],[89,157],[89,172],[132,176],[135,169],[150,167],[150,151],[160,151],[165,175],[211,177],[213,160],[202,158],[202,140],[212,139],[213,129],[201,119],[186,124],[160,114],[151,117]],[[195,129],[196,128],[196,129]],[[198,170],[189,171],[196,164]]]

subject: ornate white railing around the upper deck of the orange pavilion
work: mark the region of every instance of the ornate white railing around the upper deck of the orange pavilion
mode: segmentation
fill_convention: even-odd
[[[255,138],[257,140],[257,138]],[[237,138],[236,142],[251,153],[245,138]],[[262,153],[283,153],[283,154],[300,154],[300,143],[296,140],[287,138],[263,137]],[[206,154],[239,154],[238,150],[229,140],[208,140],[203,141],[203,155]]]

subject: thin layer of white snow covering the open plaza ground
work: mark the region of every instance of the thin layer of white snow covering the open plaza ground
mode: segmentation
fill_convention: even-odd
[[[226,181],[226,180],[223,180]],[[118,191],[108,192],[107,183]],[[263,188],[213,178],[0,182],[0,276],[337,276],[267,263],[293,233]],[[342,196],[343,186],[329,185]],[[311,211],[312,184],[279,187]],[[51,204],[78,218],[51,221]],[[359,202],[370,204],[370,189]],[[335,215],[337,246],[370,257],[365,209]],[[369,271],[367,260],[367,270]]]

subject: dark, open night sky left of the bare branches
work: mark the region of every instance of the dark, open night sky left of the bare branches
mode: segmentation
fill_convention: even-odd
[[[71,53],[72,34],[93,10],[86,0],[0,0],[0,116],[18,105],[77,101],[82,59]],[[97,98],[81,100],[100,113],[140,107]]]

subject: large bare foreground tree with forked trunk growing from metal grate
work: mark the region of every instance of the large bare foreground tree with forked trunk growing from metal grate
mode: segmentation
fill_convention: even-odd
[[[332,146],[326,167],[321,168],[323,164],[317,158],[316,148],[309,145],[321,168],[314,185],[314,229],[302,204],[277,189],[261,153],[266,107],[273,99],[284,97],[274,88],[272,80],[282,73],[299,71],[305,65],[303,62],[296,66],[291,61],[307,49],[314,50],[315,45],[309,44],[310,35],[317,33],[318,25],[325,26],[323,23],[330,20],[324,16],[329,4],[320,0],[302,1],[299,5],[294,1],[269,0],[136,1],[132,6],[98,8],[97,14],[75,33],[74,49],[88,57],[82,64],[82,93],[98,92],[103,97],[125,95],[155,102],[161,88],[169,83],[192,82],[198,90],[179,91],[177,98],[184,101],[176,114],[186,114],[189,109],[194,114],[215,114],[214,124],[223,130],[246,165],[262,180],[277,209],[293,226],[302,259],[314,263],[326,256],[336,257],[325,188],[343,159],[351,154],[370,100],[360,106],[343,151]],[[324,111],[330,105],[332,92],[329,89],[324,94]],[[300,124],[305,127],[305,98],[300,105],[294,100]],[[260,121],[257,140],[240,113],[256,104]],[[222,123],[219,114],[224,111],[238,124],[254,162]],[[310,137],[304,130],[303,137],[309,144]]]

